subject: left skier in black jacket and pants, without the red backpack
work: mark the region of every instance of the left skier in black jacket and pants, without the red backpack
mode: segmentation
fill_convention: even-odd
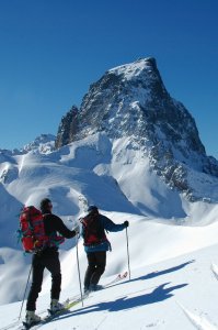
[[[45,198],[41,201],[41,210],[44,215],[44,228],[47,237],[51,238],[53,241],[55,241],[56,239],[58,239],[57,233],[60,233],[66,239],[71,239],[77,233],[79,233],[79,226],[72,231],[69,230],[59,217],[51,213],[51,209],[53,204],[48,198]],[[43,273],[45,268],[47,268],[51,275],[50,309],[55,312],[64,308],[64,306],[59,302],[61,290],[61,272],[58,245],[50,245],[51,246],[47,246],[43,251],[37,252],[33,255],[32,286],[26,302],[25,321],[27,324],[41,321],[41,318],[35,314],[35,310],[36,300],[42,289]]]

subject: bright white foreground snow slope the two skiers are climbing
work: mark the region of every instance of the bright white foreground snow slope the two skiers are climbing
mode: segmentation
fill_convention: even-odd
[[[108,213],[107,213],[108,215]],[[117,223],[128,219],[131,278],[93,293],[70,312],[43,326],[43,329],[218,329],[217,278],[210,270],[218,264],[218,223],[184,227],[157,223],[154,219],[111,213]],[[111,233],[113,251],[107,254],[107,283],[127,270],[125,232]],[[76,249],[62,255],[61,299],[79,294]],[[83,277],[85,256],[79,242]],[[46,278],[38,298],[38,312],[49,305],[50,280]],[[1,328],[18,319],[20,302],[0,307]],[[24,310],[23,315],[24,317]],[[11,329],[18,329],[18,324]]]

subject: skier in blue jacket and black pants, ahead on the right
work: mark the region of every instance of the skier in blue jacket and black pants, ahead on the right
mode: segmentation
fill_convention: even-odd
[[[105,271],[106,251],[111,250],[105,230],[117,232],[129,226],[128,221],[115,224],[111,219],[101,215],[96,206],[88,208],[88,216],[80,219],[82,223],[82,237],[84,251],[87,252],[88,268],[84,275],[84,294],[101,289],[97,285]]]

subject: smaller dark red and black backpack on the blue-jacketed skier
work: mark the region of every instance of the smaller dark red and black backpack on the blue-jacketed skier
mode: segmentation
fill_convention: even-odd
[[[80,219],[83,227],[84,245],[97,245],[107,241],[99,213],[90,213]]]

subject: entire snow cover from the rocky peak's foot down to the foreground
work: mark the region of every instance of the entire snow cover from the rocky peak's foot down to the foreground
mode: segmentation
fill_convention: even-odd
[[[84,307],[71,308],[45,329],[218,328],[218,283],[210,270],[213,264],[216,272],[218,265],[218,205],[191,204],[170,189],[128,139],[95,134],[53,152],[41,145],[22,154],[1,153],[0,177],[0,330],[18,320],[30,272],[31,256],[16,244],[18,215],[22,205],[38,206],[43,197],[51,198],[54,212],[69,228],[89,204],[116,223],[128,220],[131,268],[130,280],[92,294]],[[215,187],[216,183],[214,195]],[[113,251],[107,253],[102,284],[127,270],[125,231],[108,233],[108,239]],[[79,294],[74,245],[74,239],[68,240],[60,250],[61,300]],[[81,240],[79,258],[83,278]],[[45,314],[49,292],[45,272],[38,312]],[[22,318],[24,314],[25,305]],[[11,329],[19,329],[18,323]]]

